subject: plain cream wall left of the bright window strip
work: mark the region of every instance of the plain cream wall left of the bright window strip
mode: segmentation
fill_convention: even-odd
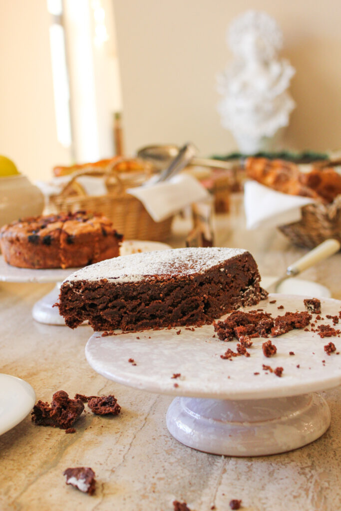
[[[0,0],[0,154],[48,179],[70,151],[57,141],[46,0]]]

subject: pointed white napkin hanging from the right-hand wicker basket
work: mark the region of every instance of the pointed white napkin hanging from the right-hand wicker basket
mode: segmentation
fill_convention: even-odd
[[[309,197],[271,190],[257,181],[244,185],[246,228],[277,227],[301,219],[301,207],[315,202]]]

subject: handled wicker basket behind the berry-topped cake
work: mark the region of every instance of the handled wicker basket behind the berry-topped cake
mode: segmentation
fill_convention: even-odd
[[[152,167],[144,163],[143,171],[118,172],[116,167],[120,163],[121,160],[106,169],[93,167],[75,172],[61,192],[51,197],[50,205],[57,212],[86,210],[102,213],[126,240],[166,240],[171,233],[173,217],[155,222],[144,205],[126,193],[127,188],[137,187],[146,181],[153,172]],[[77,182],[80,176],[103,177],[107,193],[100,196],[87,195]]]

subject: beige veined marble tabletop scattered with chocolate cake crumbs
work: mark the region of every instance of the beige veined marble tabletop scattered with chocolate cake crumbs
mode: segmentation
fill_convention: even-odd
[[[239,246],[253,254],[262,274],[282,273],[305,250],[289,246],[276,231],[246,233],[234,216],[215,222],[216,245]],[[170,240],[184,246],[188,226],[179,223]],[[307,270],[302,278],[327,286],[341,299],[341,254]],[[56,390],[74,396],[115,394],[122,413],[111,419],[83,413],[77,432],[38,427],[30,416],[0,436],[0,509],[172,511],[173,500],[194,511],[336,511],[341,508],[341,388],[323,395],[331,426],[314,443],[281,455],[233,458],[192,450],[167,430],[172,398],[107,381],[89,367],[84,346],[88,326],[72,331],[32,319],[35,301],[49,284],[0,284],[0,372],[29,382],[37,399]],[[87,408],[85,408],[87,410]],[[67,467],[96,472],[97,491],[88,496],[66,486]]]

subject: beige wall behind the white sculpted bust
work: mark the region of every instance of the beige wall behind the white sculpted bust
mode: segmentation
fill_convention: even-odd
[[[296,149],[341,148],[340,0],[113,0],[128,152],[191,140],[203,154],[236,148],[220,126],[215,76],[231,58],[225,31],[254,8],[274,16],[282,55],[297,69],[297,108],[285,134]]]

